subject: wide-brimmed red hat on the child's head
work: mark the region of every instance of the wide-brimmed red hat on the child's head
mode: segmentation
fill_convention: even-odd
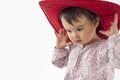
[[[42,0],[39,5],[56,32],[62,28],[59,20],[60,11],[71,6],[86,8],[99,16],[100,25],[97,34],[103,39],[108,37],[99,33],[99,30],[109,29],[115,13],[118,13],[118,29],[120,29],[120,5],[113,2],[103,0]]]

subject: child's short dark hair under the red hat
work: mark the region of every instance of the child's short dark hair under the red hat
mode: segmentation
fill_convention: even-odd
[[[94,12],[85,9],[85,8],[81,8],[81,7],[68,7],[63,9],[60,12],[60,19],[63,16],[65,18],[65,20],[70,23],[71,25],[73,25],[72,21],[78,21],[77,17],[80,17],[81,15],[86,16],[90,21],[96,21],[96,17],[97,14],[95,14]]]

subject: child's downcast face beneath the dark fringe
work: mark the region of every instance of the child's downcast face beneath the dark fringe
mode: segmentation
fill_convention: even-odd
[[[61,22],[72,42],[78,42],[82,45],[89,44],[98,40],[96,28],[99,22],[92,22],[84,15],[78,17],[79,21],[72,21],[73,25],[69,24],[64,17],[61,17]]]

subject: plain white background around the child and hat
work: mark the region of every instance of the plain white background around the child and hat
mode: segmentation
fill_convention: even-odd
[[[0,80],[64,78],[65,69],[51,64],[54,30],[38,2],[0,0]],[[115,70],[115,80],[120,80],[119,75],[120,70]]]

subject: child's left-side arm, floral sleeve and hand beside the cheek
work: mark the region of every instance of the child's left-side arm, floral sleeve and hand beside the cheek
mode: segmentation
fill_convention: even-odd
[[[68,35],[65,34],[64,29],[61,29],[59,33],[55,32],[56,36],[56,47],[52,58],[52,63],[60,68],[67,65],[69,49],[65,48],[70,46],[72,43],[67,42]]]

